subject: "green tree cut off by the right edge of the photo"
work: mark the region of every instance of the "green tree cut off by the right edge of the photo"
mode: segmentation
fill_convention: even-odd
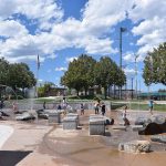
[[[144,60],[143,77],[146,85],[166,85],[166,42],[147,53]]]

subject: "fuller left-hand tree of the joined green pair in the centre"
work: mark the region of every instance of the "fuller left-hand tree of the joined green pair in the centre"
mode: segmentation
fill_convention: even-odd
[[[82,54],[69,64],[68,71],[61,77],[61,84],[75,89],[77,95],[81,90],[84,90],[86,94],[89,87],[94,85],[95,63],[96,61],[92,56]]]

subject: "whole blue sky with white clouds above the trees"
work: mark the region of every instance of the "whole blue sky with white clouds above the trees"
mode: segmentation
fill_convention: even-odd
[[[97,61],[107,55],[122,65],[127,87],[135,76],[138,90],[147,91],[142,77],[144,58],[166,41],[166,0],[0,0],[0,58],[25,62],[41,82],[60,85],[73,59],[85,53]],[[37,74],[37,56],[40,70]],[[165,89],[153,84],[152,91]]]

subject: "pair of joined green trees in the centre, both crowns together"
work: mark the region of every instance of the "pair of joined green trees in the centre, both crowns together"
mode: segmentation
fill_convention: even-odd
[[[86,54],[80,55],[70,62],[68,71],[61,77],[61,84],[79,92],[84,91],[85,95],[90,87],[98,85],[106,92],[110,86],[122,87],[126,82],[124,71],[108,56],[102,56],[100,61]]]

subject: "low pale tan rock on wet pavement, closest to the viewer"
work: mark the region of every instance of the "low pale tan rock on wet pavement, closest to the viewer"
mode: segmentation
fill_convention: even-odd
[[[127,143],[121,143],[118,151],[126,153],[148,153],[151,151],[151,144],[147,141],[132,141]]]

